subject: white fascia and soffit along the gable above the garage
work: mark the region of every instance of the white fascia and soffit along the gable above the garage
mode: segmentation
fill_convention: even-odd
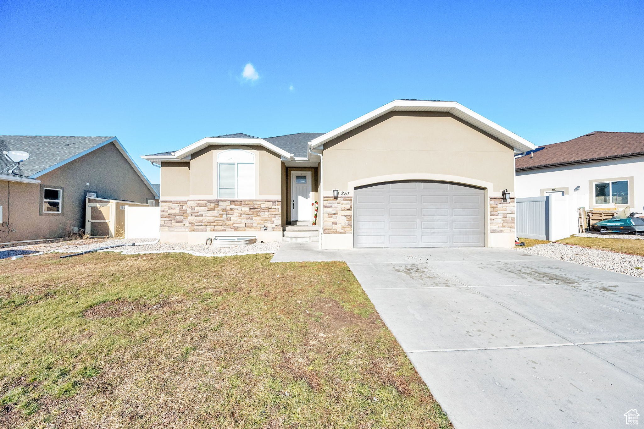
[[[385,113],[392,111],[430,111],[430,112],[448,112],[457,116],[458,118],[464,120],[465,122],[471,123],[478,129],[491,134],[498,138],[498,140],[511,145],[515,148],[517,152],[526,152],[535,149],[535,145],[530,143],[526,139],[517,136],[514,132],[508,131],[504,127],[498,125],[495,122],[492,122],[488,118],[484,118],[480,114],[468,109],[464,105],[461,105],[457,102],[438,102],[438,101],[420,101],[420,100],[394,100],[389,104],[385,104],[374,111],[371,111],[367,114],[363,114],[357,119],[352,120],[351,122],[345,123],[341,127],[337,127],[333,131],[327,132],[319,137],[314,138],[309,141],[308,144],[311,149],[323,145],[327,141],[330,141],[337,136],[345,134],[345,132],[351,131],[361,125],[364,125],[379,116],[382,116]]]

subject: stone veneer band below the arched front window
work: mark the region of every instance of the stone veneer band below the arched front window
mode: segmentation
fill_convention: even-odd
[[[161,231],[281,231],[281,201],[258,199],[160,201]]]

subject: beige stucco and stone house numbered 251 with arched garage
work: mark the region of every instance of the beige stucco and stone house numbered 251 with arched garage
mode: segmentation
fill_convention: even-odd
[[[164,242],[511,247],[503,191],[531,149],[457,102],[395,100],[325,134],[227,134],[143,158],[161,166]]]

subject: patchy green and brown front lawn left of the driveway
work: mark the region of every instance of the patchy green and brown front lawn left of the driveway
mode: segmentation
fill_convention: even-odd
[[[270,257],[0,261],[0,427],[451,428],[346,264]]]

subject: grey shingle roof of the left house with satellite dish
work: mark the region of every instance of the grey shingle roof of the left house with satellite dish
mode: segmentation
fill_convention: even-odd
[[[142,181],[158,197],[152,184],[114,136],[0,136],[0,151],[27,152],[30,155],[29,159],[23,161],[14,170],[14,174],[36,179],[108,143],[114,143]],[[12,165],[11,161],[7,160],[5,156],[0,156],[0,171],[4,171],[10,165]]]

